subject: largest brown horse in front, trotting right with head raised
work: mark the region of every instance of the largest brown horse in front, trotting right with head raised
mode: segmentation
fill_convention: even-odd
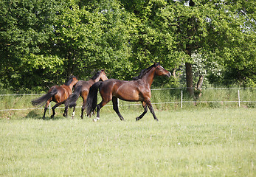
[[[136,120],[142,119],[149,108],[151,114],[153,114],[153,118],[158,121],[151,105],[151,84],[153,83],[153,77],[155,75],[166,75],[170,77],[170,72],[160,66],[159,63],[155,63],[147,69],[142,70],[139,76],[134,77],[134,80],[131,81],[110,79],[105,80],[105,82],[94,83],[90,88],[86,100],[87,114],[94,112],[97,107],[97,118],[93,119],[94,122],[97,121],[100,119],[100,108],[103,108],[105,104],[112,100],[114,111],[116,111],[121,120],[124,120],[117,105],[117,98],[120,98],[125,101],[142,102],[144,112],[139,117],[136,117]],[[98,89],[103,100],[97,105]]]

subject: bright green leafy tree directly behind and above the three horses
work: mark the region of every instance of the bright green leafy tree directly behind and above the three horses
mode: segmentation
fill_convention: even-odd
[[[58,16],[55,51],[66,58],[69,73],[83,77],[94,69],[106,69],[111,77],[128,78],[133,24],[133,16],[119,1],[80,1]]]

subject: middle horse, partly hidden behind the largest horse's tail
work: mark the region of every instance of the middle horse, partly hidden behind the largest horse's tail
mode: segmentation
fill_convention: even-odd
[[[83,119],[83,111],[86,108],[86,98],[87,98],[87,95],[89,94],[89,89],[94,83],[97,83],[99,80],[102,80],[102,81],[108,80],[108,77],[106,76],[104,69],[98,71],[88,81],[79,80],[77,82],[75,89],[73,91],[73,94],[71,94],[65,102],[65,111],[63,113],[63,117],[67,117],[68,108],[73,107],[72,119],[74,119],[75,106],[77,105],[76,102],[77,102],[78,97],[81,96],[83,98],[83,106],[82,106],[82,111],[81,111],[80,117],[81,117],[81,119]]]

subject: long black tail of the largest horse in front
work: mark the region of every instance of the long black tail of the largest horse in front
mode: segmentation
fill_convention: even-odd
[[[99,81],[97,83],[94,83],[90,87],[89,94],[86,99],[86,114],[90,115],[94,112],[96,106],[97,106],[97,93],[98,89],[100,88],[100,85],[103,83],[103,81]]]

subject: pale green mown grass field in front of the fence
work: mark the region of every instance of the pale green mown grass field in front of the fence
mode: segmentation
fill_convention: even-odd
[[[256,176],[255,108],[140,113],[0,119],[0,176]]]

